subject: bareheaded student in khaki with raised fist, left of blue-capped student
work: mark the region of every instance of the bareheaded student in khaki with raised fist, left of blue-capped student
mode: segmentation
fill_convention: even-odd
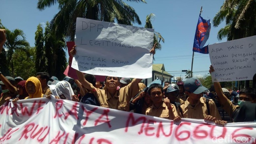
[[[153,105],[146,110],[146,115],[170,120],[181,120],[177,114],[175,105],[171,104],[168,98],[163,99],[164,91],[160,84],[151,84],[148,93],[153,101]]]

